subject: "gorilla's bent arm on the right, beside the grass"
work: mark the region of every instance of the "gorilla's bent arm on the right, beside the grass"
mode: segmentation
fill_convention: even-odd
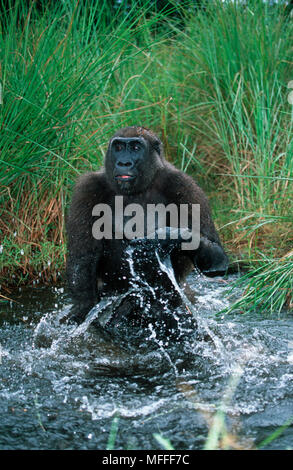
[[[197,250],[185,251],[185,254],[188,254],[194,265],[207,276],[224,274],[228,269],[228,257],[221,245],[204,192],[189,175],[176,170],[169,163],[164,180],[164,193],[169,202],[190,206],[200,204],[200,244]],[[191,213],[189,228],[192,228]]]

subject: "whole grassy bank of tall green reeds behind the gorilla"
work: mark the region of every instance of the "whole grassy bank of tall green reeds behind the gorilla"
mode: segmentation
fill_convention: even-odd
[[[113,13],[106,1],[30,5],[11,2],[0,20],[2,295],[62,279],[75,179],[100,167],[117,128],[142,124],[207,191],[231,258],[257,270],[242,307],[254,307],[256,287],[258,309],[275,294],[274,308],[290,305],[293,25],[284,7],[215,1],[194,12],[180,2],[171,19],[145,7]]]

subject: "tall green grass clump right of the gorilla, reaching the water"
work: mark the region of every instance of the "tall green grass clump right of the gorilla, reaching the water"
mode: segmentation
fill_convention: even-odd
[[[184,123],[208,148],[218,190],[228,196],[222,233],[255,265],[236,284],[248,282],[232,309],[279,311],[293,303],[293,28],[284,6],[249,6],[211,6],[181,33],[184,94],[195,116]]]

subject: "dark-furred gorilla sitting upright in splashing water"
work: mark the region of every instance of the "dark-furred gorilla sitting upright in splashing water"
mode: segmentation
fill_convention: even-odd
[[[146,240],[145,233],[139,238],[126,237],[123,227],[129,221],[129,214],[122,219],[121,214],[116,214],[121,220],[119,236],[94,236],[94,224],[101,221],[94,207],[107,206],[114,210],[117,196],[123,197],[123,209],[130,204],[137,204],[144,210],[148,204],[173,204],[178,208],[181,204],[187,205],[189,225],[191,207],[199,204],[200,238],[197,247],[182,249],[180,233],[177,239],[170,236],[168,217],[164,240],[158,236]],[[158,301],[166,291],[178,300],[178,292],[160,259],[170,261],[169,268],[178,285],[182,285],[194,268],[207,276],[214,276],[224,274],[228,267],[228,258],[204,192],[190,176],[164,158],[159,138],[140,126],[116,132],[110,139],[104,168],[79,178],[73,191],[66,228],[67,278],[73,300],[70,315],[77,322],[82,322],[92,307],[105,297],[123,295],[135,288],[143,289],[146,283],[157,289],[155,295],[150,295],[149,302]],[[157,229],[160,226],[156,225]],[[161,253],[161,258],[157,252]],[[138,299],[136,304],[137,312]]]

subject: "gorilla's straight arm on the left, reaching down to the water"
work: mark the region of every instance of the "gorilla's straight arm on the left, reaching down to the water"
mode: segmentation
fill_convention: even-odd
[[[96,271],[103,246],[92,235],[92,210],[100,202],[103,186],[99,173],[80,177],[66,220],[67,281],[73,300],[70,316],[80,321],[97,301]]]

